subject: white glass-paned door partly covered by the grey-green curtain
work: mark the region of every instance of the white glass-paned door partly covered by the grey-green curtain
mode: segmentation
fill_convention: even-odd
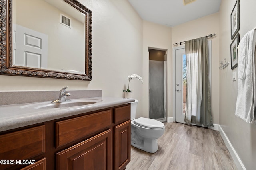
[[[186,106],[186,55],[185,47],[175,53],[175,121],[184,123]]]

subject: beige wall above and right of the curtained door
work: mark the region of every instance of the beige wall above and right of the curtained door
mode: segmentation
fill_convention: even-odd
[[[216,36],[212,39],[212,117],[213,123],[219,124],[219,14],[215,13],[172,27],[172,44],[204,37],[210,33]],[[180,47],[173,45],[173,48]],[[172,75],[171,75],[172,76]],[[171,84],[171,86],[173,86]],[[173,88],[173,87],[172,87]],[[172,89],[171,88],[171,89]],[[172,117],[172,116],[171,116]]]

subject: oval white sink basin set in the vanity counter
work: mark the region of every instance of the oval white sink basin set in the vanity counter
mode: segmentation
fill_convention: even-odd
[[[102,102],[98,99],[84,99],[84,100],[71,100],[68,102],[50,103],[50,102],[40,102],[35,104],[28,104],[20,108],[34,108],[34,109],[54,109],[54,108],[68,108],[74,106],[87,106],[90,104],[95,104]]]

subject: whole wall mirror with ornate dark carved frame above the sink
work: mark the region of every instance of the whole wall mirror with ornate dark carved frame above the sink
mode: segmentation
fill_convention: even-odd
[[[92,80],[92,11],[76,0],[0,0],[0,74]]]

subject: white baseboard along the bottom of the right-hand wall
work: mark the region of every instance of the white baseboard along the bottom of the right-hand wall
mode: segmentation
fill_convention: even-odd
[[[246,168],[244,167],[243,162],[239,158],[238,154],[236,153],[236,150],[234,149],[234,147],[230,143],[226,133],[223,131],[223,129],[221,128],[220,125],[218,125],[218,129],[219,129],[219,132],[220,132],[220,135],[221,135],[223,141],[225,142],[225,144],[228,148],[228,151],[230,152],[230,154],[231,154],[231,156],[232,156],[232,158],[233,158],[233,160],[236,164],[237,169],[238,170],[246,170]]]

